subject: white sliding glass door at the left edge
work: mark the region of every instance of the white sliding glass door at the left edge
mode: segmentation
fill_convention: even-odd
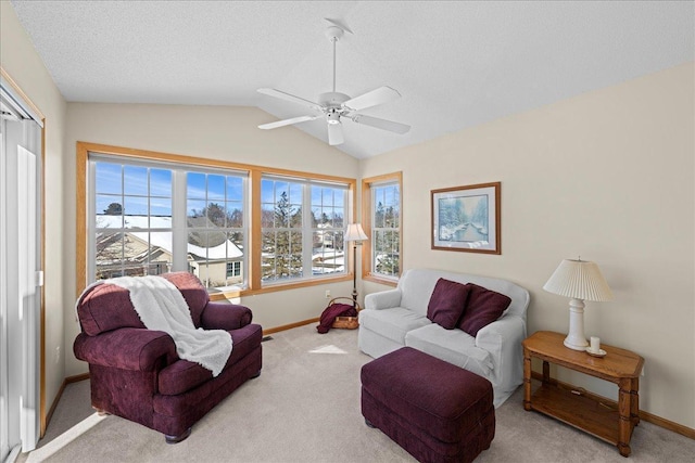
[[[39,438],[41,127],[0,102],[0,461]]]

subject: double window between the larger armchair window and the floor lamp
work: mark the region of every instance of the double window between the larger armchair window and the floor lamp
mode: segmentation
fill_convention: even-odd
[[[265,176],[261,183],[262,281],[345,274],[348,184]]]

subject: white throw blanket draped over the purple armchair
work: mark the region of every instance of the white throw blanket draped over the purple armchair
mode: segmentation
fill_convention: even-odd
[[[217,376],[231,353],[231,336],[224,330],[195,329],[186,299],[162,276],[118,276],[103,283],[130,292],[132,307],[149,330],[163,331],[174,339],[178,357],[199,363]]]

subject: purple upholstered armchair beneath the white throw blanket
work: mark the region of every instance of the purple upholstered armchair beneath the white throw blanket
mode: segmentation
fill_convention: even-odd
[[[111,413],[164,433],[169,443],[186,439],[191,426],[218,402],[261,374],[261,325],[251,323],[243,306],[212,303],[191,273],[162,275],[181,292],[193,324],[226,330],[232,351],[225,369],[210,370],[181,360],[174,340],[144,327],[127,290],[112,284],[90,288],[77,306],[81,333],[75,357],[89,363],[91,403]]]

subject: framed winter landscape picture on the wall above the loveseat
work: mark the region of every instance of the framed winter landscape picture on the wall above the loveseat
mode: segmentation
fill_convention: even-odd
[[[432,249],[502,254],[500,185],[432,190]]]

